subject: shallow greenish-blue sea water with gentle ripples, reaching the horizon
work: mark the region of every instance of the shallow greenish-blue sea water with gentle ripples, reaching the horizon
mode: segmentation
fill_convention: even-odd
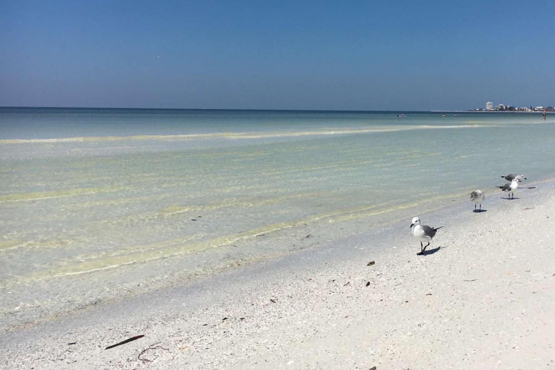
[[[552,115],[403,113],[0,108],[2,327],[554,175]]]

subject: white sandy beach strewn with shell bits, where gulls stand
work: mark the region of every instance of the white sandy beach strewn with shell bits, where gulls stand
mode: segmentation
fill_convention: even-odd
[[[322,242],[5,334],[0,367],[553,368],[555,182],[537,186],[420,215],[445,225],[426,256],[410,220]]]

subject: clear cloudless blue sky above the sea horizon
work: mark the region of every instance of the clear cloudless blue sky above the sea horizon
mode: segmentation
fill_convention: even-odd
[[[555,2],[2,1],[0,106],[555,106]]]

